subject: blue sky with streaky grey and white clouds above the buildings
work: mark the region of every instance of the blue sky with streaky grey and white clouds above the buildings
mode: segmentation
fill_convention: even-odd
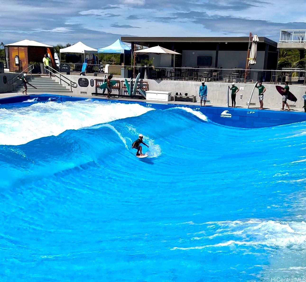
[[[0,0],[0,41],[105,47],[122,35],[248,36],[306,28],[304,0]]]

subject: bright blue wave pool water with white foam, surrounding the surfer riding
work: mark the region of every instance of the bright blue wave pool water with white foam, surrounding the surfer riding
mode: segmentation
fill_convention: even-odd
[[[303,276],[305,135],[305,122],[232,128],[184,107],[2,105],[0,277]]]

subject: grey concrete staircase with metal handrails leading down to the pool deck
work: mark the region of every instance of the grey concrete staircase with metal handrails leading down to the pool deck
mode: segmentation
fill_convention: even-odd
[[[37,88],[35,89],[31,85],[27,84],[28,86],[27,94],[41,94],[41,93],[71,94],[72,93],[68,85],[67,87],[65,87],[62,84],[56,82],[54,79],[52,79],[52,77],[33,76],[33,77],[28,77],[27,81]],[[15,87],[15,91],[17,91],[17,93],[22,93],[22,91],[24,91],[22,83]]]

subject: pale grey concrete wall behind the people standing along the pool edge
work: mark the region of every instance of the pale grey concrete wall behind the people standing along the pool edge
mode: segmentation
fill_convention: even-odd
[[[95,92],[95,87],[90,86],[90,80],[95,79],[95,76],[74,76],[70,75],[67,76],[71,80],[78,82],[79,78],[86,77],[89,81],[88,87],[80,87],[78,85],[77,88],[73,88],[73,93],[80,95],[82,92],[87,92],[88,98],[95,97],[92,96],[91,93]],[[119,78],[121,81],[124,79]],[[56,79],[59,81],[58,79]],[[197,101],[199,101],[199,87],[201,85],[200,82],[195,81],[174,81],[174,80],[144,80],[148,81],[149,83],[149,90],[156,90],[156,91],[171,91],[172,95],[175,95],[176,92],[181,92],[183,95],[184,93],[188,93],[189,95],[195,95],[197,97]],[[63,84],[65,85],[65,84]],[[227,87],[230,83],[219,83],[219,82],[207,82],[207,100],[215,105],[226,105],[227,103]],[[272,84],[264,84],[267,91],[264,94],[264,107],[267,108],[281,108],[282,106],[282,96],[276,91],[275,85]],[[243,90],[239,90],[237,97],[236,97],[236,106],[246,106],[248,102],[253,86],[252,83],[236,83],[238,88],[243,87]],[[283,86],[283,85],[282,85]],[[306,86],[295,86],[290,85],[290,91],[297,97],[297,102],[295,103],[296,107],[302,109],[304,106],[304,100],[301,98],[302,95],[305,94]],[[115,91],[116,93],[117,91]],[[240,95],[242,94],[242,98]],[[252,96],[251,103],[255,103],[255,106],[250,106],[250,108],[259,107],[259,99],[258,99],[258,90],[254,90],[254,94]],[[293,105],[294,103],[288,100],[289,105]],[[231,100],[230,100],[231,104]]]

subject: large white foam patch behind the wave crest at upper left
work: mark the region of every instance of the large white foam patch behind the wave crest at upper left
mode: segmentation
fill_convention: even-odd
[[[0,109],[0,143],[20,145],[67,129],[80,129],[153,110],[139,104],[107,103],[91,99],[76,102],[35,103],[28,107]]]

